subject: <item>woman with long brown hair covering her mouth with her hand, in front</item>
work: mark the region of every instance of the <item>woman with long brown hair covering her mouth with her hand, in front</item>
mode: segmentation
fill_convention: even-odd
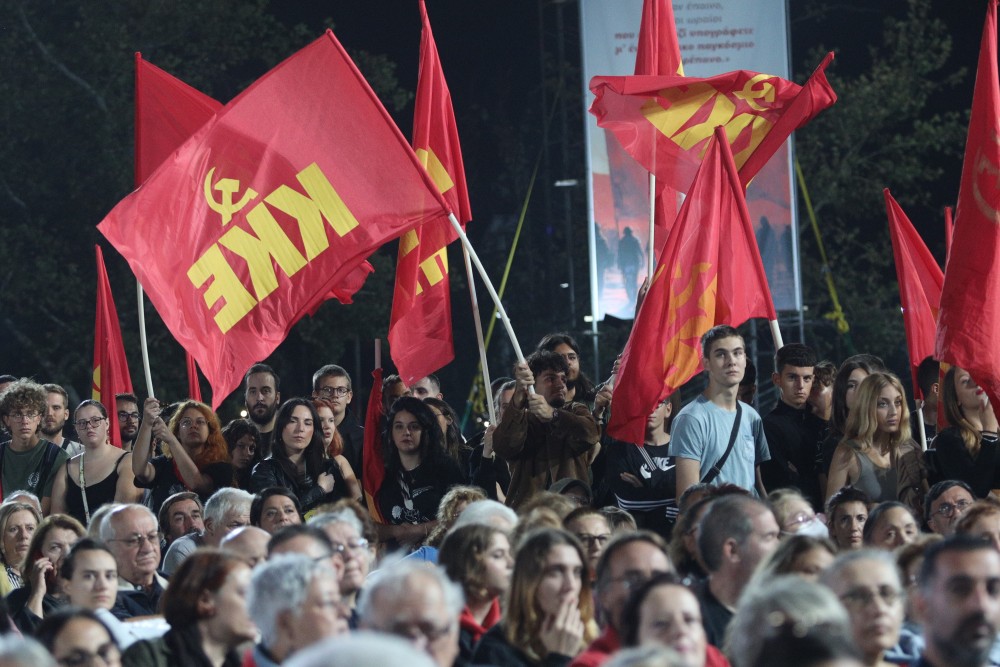
[[[597,636],[586,556],[571,533],[525,536],[514,560],[503,617],[476,646],[472,662],[506,667],[568,665]]]

